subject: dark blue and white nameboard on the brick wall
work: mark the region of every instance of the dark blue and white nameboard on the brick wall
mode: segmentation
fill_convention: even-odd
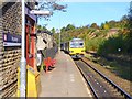
[[[11,33],[3,33],[3,46],[21,46],[21,36]]]

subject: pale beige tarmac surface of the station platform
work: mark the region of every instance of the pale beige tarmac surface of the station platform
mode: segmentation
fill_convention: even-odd
[[[69,55],[57,53],[55,68],[41,72],[38,97],[92,97],[85,79]]]

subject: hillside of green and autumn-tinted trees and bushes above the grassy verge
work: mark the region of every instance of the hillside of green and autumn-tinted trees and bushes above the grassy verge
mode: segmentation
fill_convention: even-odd
[[[108,54],[132,54],[132,2],[130,11],[122,16],[120,21],[111,20],[76,28],[68,24],[61,30],[62,42],[68,42],[73,37],[84,38],[86,42],[86,51],[95,51],[100,55]],[[58,41],[58,34],[54,34]]]

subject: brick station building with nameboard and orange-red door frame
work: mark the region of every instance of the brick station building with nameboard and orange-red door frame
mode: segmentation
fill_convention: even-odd
[[[0,98],[15,95],[21,58],[21,2],[10,1],[12,0],[0,1]],[[35,0],[32,1],[25,2],[25,58],[26,64],[35,68],[35,50],[32,50],[35,37],[32,34],[35,34],[36,16],[29,13],[35,7]],[[33,57],[29,58],[29,54]]]

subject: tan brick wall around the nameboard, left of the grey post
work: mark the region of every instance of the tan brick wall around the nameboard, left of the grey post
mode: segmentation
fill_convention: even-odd
[[[21,47],[3,47],[2,33],[21,35],[21,3],[7,2],[0,19],[0,98],[16,92],[16,73],[20,66]]]

